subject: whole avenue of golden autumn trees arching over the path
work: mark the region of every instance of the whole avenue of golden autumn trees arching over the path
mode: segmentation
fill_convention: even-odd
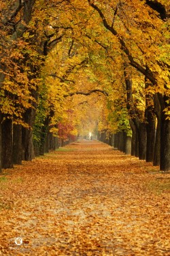
[[[0,170],[93,131],[170,170],[167,0],[0,0]]]

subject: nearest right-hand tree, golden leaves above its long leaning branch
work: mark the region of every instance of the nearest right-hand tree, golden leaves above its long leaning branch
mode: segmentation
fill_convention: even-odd
[[[146,78],[148,78],[148,80],[150,80],[152,83],[154,93],[158,93],[158,99],[161,108],[160,170],[167,171],[170,168],[170,163],[168,160],[170,159],[168,116],[169,65],[167,63],[167,59],[164,58],[163,55],[160,54],[160,56],[158,56],[158,52],[161,52],[163,49],[165,50],[167,48],[167,31],[165,29],[165,34],[163,34],[161,31],[161,28],[165,26],[164,21],[158,17],[156,12],[152,11],[150,7],[146,6],[145,2],[141,1],[134,1],[133,3],[126,1],[126,3],[120,3],[118,6],[116,6],[113,2],[108,2],[107,4],[105,3],[105,6],[107,6],[107,12],[106,7],[103,6],[102,3],[97,5],[90,0],[88,0],[88,3],[98,12],[104,27],[118,39],[120,48],[129,59],[130,65],[135,67],[135,69],[140,71],[141,74],[146,76]],[[165,8],[166,7],[167,5],[165,5]],[[118,8],[119,11],[119,18],[122,19],[122,16],[124,16],[124,19],[122,19],[122,24],[124,25],[125,29],[122,29],[122,31],[118,30],[119,28],[116,27],[116,23],[113,22],[113,17],[115,21],[116,14],[118,13],[116,8]],[[129,21],[126,18],[127,16],[131,17],[131,20],[133,21],[133,27],[127,27],[126,29],[126,25]],[[156,18],[156,22],[152,16]],[[126,22],[124,21],[125,19],[127,20]],[[152,27],[152,30],[150,27]],[[135,33],[137,30],[139,33]],[[129,31],[131,33],[129,33]],[[143,42],[139,43],[141,32],[143,32],[145,36]],[[158,33],[160,37],[159,39],[156,39],[158,37]],[[134,49],[131,47],[132,39],[134,42]],[[161,47],[159,47],[159,44]],[[138,50],[135,50],[135,48]],[[139,59],[139,56],[135,57],[136,52],[140,52],[141,60]],[[139,61],[135,61],[135,59],[138,59]],[[143,63],[147,63],[147,71],[143,66]],[[161,73],[164,74],[164,76],[162,76]]]

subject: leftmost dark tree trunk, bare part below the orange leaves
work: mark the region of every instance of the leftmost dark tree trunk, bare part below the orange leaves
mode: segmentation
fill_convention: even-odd
[[[7,116],[3,116],[7,117]],[[6,118],[1,123],[2,131],[2,167],[12,168],[12,119]]]

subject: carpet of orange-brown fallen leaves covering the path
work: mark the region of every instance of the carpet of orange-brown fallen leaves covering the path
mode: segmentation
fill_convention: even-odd
[[[0,255],[170,255],[169,178],[85,140],[4,170]]]

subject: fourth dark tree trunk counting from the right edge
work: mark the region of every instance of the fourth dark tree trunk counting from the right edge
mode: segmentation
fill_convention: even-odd
[[[139,159],[146,160],[146,142],[147,142],[147,134],[146,134],[146,124],[139,124]]]

